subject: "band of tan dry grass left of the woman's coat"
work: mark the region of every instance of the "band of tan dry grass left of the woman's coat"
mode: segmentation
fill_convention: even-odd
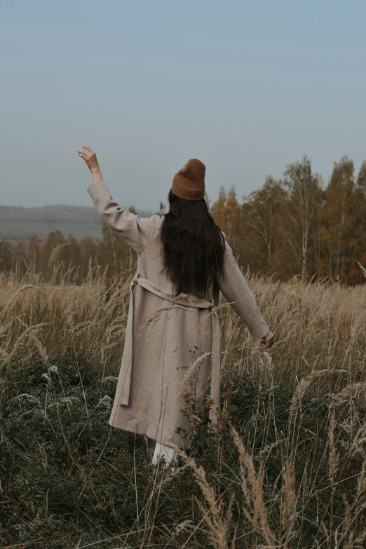
[[[107,370],[121,358],[130,273],[126,271],[109,287],[100,269],[91,270],[80,286],[67,281],[60,286],[29,285],[25,280],[11,277],[0,286],[4,299],[0,309],[2,362],[16,354],[19,365],[29,365],[39,358],[40,348],[48,361],[77,349]],[[32,337],[25,337],[28,327]]]

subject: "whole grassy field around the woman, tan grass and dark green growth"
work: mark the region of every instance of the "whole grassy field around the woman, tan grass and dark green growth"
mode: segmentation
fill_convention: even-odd
[[[276,343],[222,301],[220,427],[187,393],[164,473],[108,423],[132,276],[0,282],[0,547],[364,548],[366,286],[247,273]]]

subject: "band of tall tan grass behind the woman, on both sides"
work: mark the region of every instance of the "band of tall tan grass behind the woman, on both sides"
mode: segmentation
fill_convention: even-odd
[[[87,353],[97,364],[113,365],[121,358],[129,285],[126,271],[106,286],[104,273],[91,269],[81,286],[69,283],[29,284],[11,277],[0,282],[0,323],[7,337],[2,352],[27,346],[26,360],[36,356],[32,341],[18,341],[25,326],[32,330],[49,360],[67,355],[70,348]],[[230,307],[221,309],[223,369],[259,377],[263,384],[296,388],[304,376],[317,370],[346,369],[348,384],[364,379],[366,369],[366,288],[337,283],[309,283],[295,278],[289,283],[248,276],[266,322],[275,332],[270,353],[252,344],[248,330]],[[20,321],[21,320],[21,321]],[[22,324],[24,323],[24,324]],[[6,344],[4,345],[4,341]],[[17,343],[18,341],[18,343]],[[22,353],[18,353],[18,359]],[[319,380],[318,391],[344,385],[344,375]]]

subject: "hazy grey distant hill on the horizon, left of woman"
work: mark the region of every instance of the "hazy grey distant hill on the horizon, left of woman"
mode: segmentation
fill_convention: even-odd
[[[138,210],[142,217],[153,215],[151,210]],[[0,239],[28,240],[36,234],[42,240],[51,231],[60,230],[64,236],[101,238],[102,219],[92,206],[55,204],[24,208],[0,205]]]

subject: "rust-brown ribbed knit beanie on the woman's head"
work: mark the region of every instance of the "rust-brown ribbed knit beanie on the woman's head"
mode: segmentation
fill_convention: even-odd
[[[185,200],[205,198],[205,170],[201,160],[191,158],[173,177],[172,193]]]

